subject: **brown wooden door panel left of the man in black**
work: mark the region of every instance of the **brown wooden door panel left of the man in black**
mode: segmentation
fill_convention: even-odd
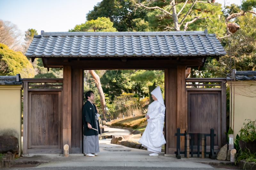
[[[29,92],[29,149],[61,148],[61,92]]]

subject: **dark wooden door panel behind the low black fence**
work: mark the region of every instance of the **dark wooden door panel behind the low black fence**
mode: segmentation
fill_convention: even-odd
[[[188,92],[188,133],[210,133],[214,129],[214,145],[219,145],[220,92]],[[194,145],[197,144],[197,135]],[[201,145],[201,141],[200,141]],[[207,137],[210,145],[210,137]]]

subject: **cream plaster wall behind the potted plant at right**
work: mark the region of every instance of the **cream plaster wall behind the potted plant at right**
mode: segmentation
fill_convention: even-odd
[[[230,82],[228,82],[228,85],[230,85]],[[236,134],[240,135],[239,130],[241,130],[241,128],[244,127],[243,123],[247,122],[245,121],[245,119],[251,119],[252,121],[256,120],[256,82],[236,81],[234,85],[233,81],[232,86],[232,129],[234,123],[233,130],[234,137],[236,137]],[[234,101],[235,105],[233,105]]]

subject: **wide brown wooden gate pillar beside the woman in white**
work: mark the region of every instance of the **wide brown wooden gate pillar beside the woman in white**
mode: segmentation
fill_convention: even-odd
[[[174,154],[176,151],[176,133],[177,128],[184,133],[187,129],[187,97],[185,66],[169,68],[164,70],[165,84],[165,153]],[[184,138],[181,138],[181,149],[184,148]]]

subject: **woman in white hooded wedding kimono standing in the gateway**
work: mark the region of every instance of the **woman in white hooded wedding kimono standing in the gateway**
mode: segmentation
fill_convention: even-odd
[[[152,98],[155,100],[148,106],[148,112],[145,117],[148,119],[148,125],[139,140],[143,147],[152,152],[149,156],[158,156],[161,152],[161,146],[166,144],[163,135],[164,128],[164,99],[161,89],[157,86],[152,92]]]

